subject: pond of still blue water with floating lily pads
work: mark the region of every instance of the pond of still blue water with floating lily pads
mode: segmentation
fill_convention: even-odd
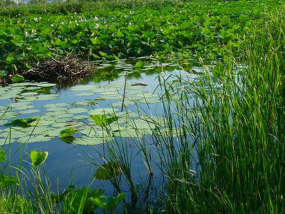
[[[163,89],[158,87],[159,80],[175,82],[175,75],[194,80],[203,73],[193,60],[183,62],[183,66],[184,69],[177,63],[157,64],[156,60],[98,62],[97,69],[104,78],[86,78],[72,84],[65,82],[66,85],[21,82],[1,87],[0,145],[8,151],[9,164],[19,167],[22,159],[20,164],[27,169],[32,150],[48,152],[45,173],[53,191],[57,192],[57,181],[61,188],[69,184],[88,186],[98,166],[104,163],[104,143],[112,139],[118,148],[122,141],[129,142],[129,148],[136,147],[137,139],[151,136],[155,128],[145,115],[155,121],[163,120]],[[118,121],[109,125],[109,132],[91,119],[92,115],[103,114],[118,116]],[[71,139],[59,138],[59,132],[71,127],[77,130]],[[145,142],[144,146],[151,147],[151,137]],[[134,182],[140,183],[140,179],[147,179],[149,170],[137,153],[127,155]],[[155,154],[152,159],[155,161]],[[152,169],[157,176],[157,166]],[[113,193],[108,181],[97,180],[92,187],[104,187],[105,192]]]

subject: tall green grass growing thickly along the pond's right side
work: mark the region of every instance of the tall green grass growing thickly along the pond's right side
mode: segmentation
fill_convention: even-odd
[[[252,28],[242,66],[163,84],[167,213],[284,213],[284,21],[282,8]]]

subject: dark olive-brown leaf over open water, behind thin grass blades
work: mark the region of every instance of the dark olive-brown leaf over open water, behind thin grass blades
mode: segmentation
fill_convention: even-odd
[[[99,180],[109,180],[112,177],[116,177],[122,173],[120,165],[116,162],[108,162],[100,166],[95,172],[95,179]]]

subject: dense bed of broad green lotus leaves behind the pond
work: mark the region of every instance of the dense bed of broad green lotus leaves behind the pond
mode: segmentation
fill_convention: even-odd
[[[172,53],[225,57],[228,48],[235,51],[240,46],[239,38],[253,21],[279,7],[276,1],[166,1],[142,8],[124,3],[65,15],[31,10],[25,16],[8,17],[2,11],[0,74],[15,75],[37,62],[71,53],[89,60],[151,54],[161,59]]]

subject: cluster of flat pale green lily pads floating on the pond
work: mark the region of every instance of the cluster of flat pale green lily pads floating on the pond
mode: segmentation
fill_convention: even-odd
[[[138,73],[140,69],[149,71],[151,67],[156,68],[156,65],[151,66],[142,61],[129,65],[124,63],[102,63],[100,69],[119,69],[125,78],[127,73],[131,75],[132,72]],[[172,68],[178,66],[172,63],[163,65]],[[190,75],[186,72],[185,74]],[[192,78],[195,77],[192,74]],[[169,81],[172,79],[169,78]],[[116,81],[109,84],[77,84],[68,89],[72,94],[67,96],[72,97],[65,100],[59,99],[60,92],[57,93],[57,85],[53,83],[19,82],[1,87],[0,99],[6,105],[0,105],[4,124],[0,129],[0,145],[15,141],[44,142],[58,136],[66,143],[95,145],[111,141],[113,136],[140,137],[152,134],[156,124],[149,121],[160,121],[163,124],[163,118],[148,116],[146,119],[135,109],[136,105],[148,105],[148,108],[153,105],[153,109],[156,109],[156,105],[161,102],[158,89],[153,93],[157,84],[158,80],[156,83],[145,83],[136,82],[131,77],[127,79],[126,85],[125,82]],[[126,95],[123,99],[124,89]],[[134,107],[133,110],[131,106]],[[120,112],[122,107],[124,111]],[[116,120],[104,124],[102,129],[103,126],[96,122],[96,117],[100,118],[99,121],[104,121],[103,117],[105,121],[110,120],[107,118]]]

